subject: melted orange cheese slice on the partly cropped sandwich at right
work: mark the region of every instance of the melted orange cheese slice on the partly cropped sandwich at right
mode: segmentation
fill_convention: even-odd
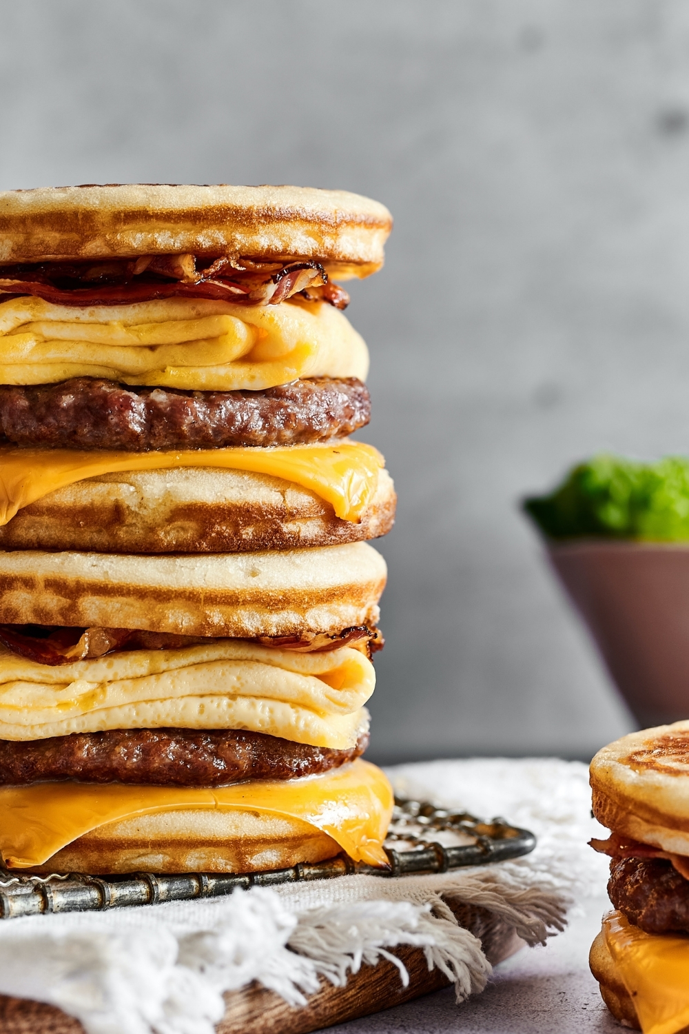
[[[605,916],[603,933],[644,1034],[677,1034],[689,1025],[689,938],[645,934],[621,912]]]

